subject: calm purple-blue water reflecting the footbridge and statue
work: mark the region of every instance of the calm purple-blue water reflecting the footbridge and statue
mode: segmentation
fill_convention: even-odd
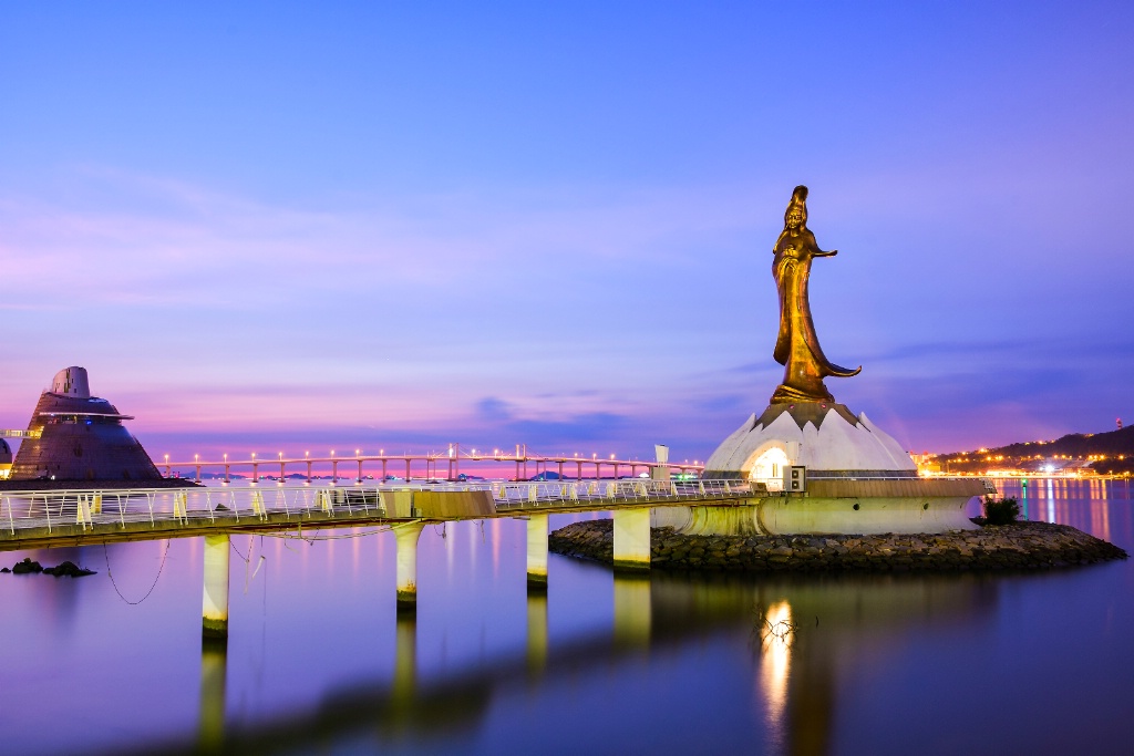
[[[1134,551],[1126,484],[1032,482],[1027,512]],[[528,598],[525,524],[496,520],[425,529],[399,622],[392,536],[333,535],[234,537],[227,654],[197,540],[0,555],[99,570],[0,576],[2,750],[1134,753],[1134,561],[642,581],[551,555]]]

